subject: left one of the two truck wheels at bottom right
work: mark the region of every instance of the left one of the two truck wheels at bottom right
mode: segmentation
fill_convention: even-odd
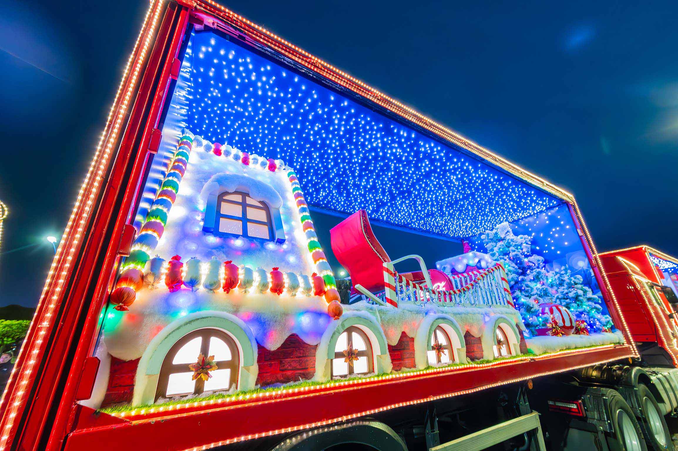
[[[607,435],[607,446],[611,451],[647,451],[640,423],[629,404],[618,391],[607,389],[607,414],[614,428]]]

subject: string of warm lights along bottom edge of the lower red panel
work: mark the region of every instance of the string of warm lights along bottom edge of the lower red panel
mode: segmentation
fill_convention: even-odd
[[[600,360],[600,361],[595,361],[595,362],[591,362],[590,364],[573,366],[572,368],[567,368],[567,370],[578,370],[579,368],[584,368],[586,366],[591,366],[591,365],[604,364],[605,362],[612,361],[612,360],[616,360],[616,359],[604,359],[604,360]],[[237,443],[237,442],[245,442],[246,440],[258,439],[258,438],[262,438],[262,437],[270,437],[271,435],[278,435],[278,434],[281,434],[281,433],[290,433],[290,432],[295,432],[295,431],[301,431],[303,429],[312,429],[312,428],[315,428],[315,427],[330,425],[332,423],[339,423],[340,421],[352,420],[353,418],[359,418],[361,416],[373,415],[373,414],[376,414],[376,413],[379,413],[379,412],[384,412],[384,410],[391,410],[391,409],[405,407],[405,406],[414,406],[415,404],[422,404],[424,402],[435,401],[437,399],[444,399],[444,398],[448,398],[448,397],[468,395],[469,393],[475,393],[475,392],[480,391],[480,390],[491,389],[491,388],[494,388],[494,387],[500,387],[502,385],[515,384],[515,383],[522,382],[523,380],[529,380],[529,379],[541,377],[541,376],[549,376],[550,374],[557,374],[557,373],[562,372],[562,371],[564,371],[564,370],[546,371],[546,372],[542,372],[542,373],[539,373],[539,374],[533,374],[532,376],[524,376],[524,377],[515,378],[515,379],[511,379],[511,380],[504,380],[500,383],[493,383],[493,384],[484,385],[483,387],[477,387],[475,389],[468,389],[468,390],[462,390],[462,391],[452,391],[450,393],[445,393],[443,395],[427,396],[427,397],[423,397],[423,398],[420,398],[420,399],[413,399],[412,401],[405,401],[405,402],[399,402],[397,404],[390,404],[388,406],[384,406],[384,407],[380,407],[380,408],[376,408],[376,409],[365,410],[364,412],[358,412],[358,413],[351,414],[351,415],[337,416],[335,418],[317,421],[315,423],[306,423],[306,424],[297,425],[297,426],[293,426],[293,427],[285,427],[285,428],[282,428],[282,429],[275,429],[275,430],[267,431],[267,432],[264,432],[264,433],[241,435],[240,437],[235,437],[233,439],[226,439],[226,440],[221,440],[220,442],[212,442],[211,444],[194,446],[193,448],[185,448],[182,451],[204,451],[204,450],[209,450],[211,448],[216,448],[217,446],[224,446],[224,445],[229,445],[229,444],[233,444],[233,443]]]

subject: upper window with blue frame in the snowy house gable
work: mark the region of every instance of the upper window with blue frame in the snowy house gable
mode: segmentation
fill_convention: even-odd
[[[275,239],[268,206],[252,199],[247,193],[221,193],[216,203],[214,231],[219,234],[248,238]]]

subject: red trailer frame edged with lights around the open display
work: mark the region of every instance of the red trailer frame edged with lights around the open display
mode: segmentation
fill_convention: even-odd
[[[159,117],[180,61],[189,23],[211,26],[255,47],[265,47],[363,96],[407,121],[570,199],[570,212],[614,323],[626,345],[517,358],[483,368],[431,370],[414,376],[368,378],[334,388],[317,387],[225,405],[196,403],[172,409],[98,414],[77,403],[92,392],[98,360],[91,357],[119,258],[134,237],[132,212],[148,157],[156,150]],[[574,197],[462,138],[365,83],[315,58],[211,0],[153,0],[129,56],[73,213],[54,257],[31,328],[0,402],[0,450],[195,450],[336,423],[374,412],[472,393],[574,368],[637,357],[610,283]],[[246,418],[246,421],[243,421]],[[234,425],[237,427],[224,427]],[[176,431],[191,433],[176,434]],[[199,442],[199,443],[198,443]]]

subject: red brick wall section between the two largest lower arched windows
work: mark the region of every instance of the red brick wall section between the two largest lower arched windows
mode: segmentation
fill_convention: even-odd
[[[307,345],[297,334],[285,339],[275,351],[257,345],[257,385],[296,382],[313,378],[317,345]]]

